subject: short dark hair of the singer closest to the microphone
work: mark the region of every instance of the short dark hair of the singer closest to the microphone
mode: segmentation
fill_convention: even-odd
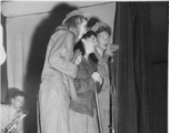
[[[111,34],[111,28],[107,23],[101,23],[96,31],[97,34],[101,32],[107,32],[109,35]]]

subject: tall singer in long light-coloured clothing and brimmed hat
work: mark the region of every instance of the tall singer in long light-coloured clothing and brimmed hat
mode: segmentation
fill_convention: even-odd
[[[87,16],[76,10],[50,38],[38,95],[39,133],[69,133],[69,101],[77,98],[73,44],[86,33],[87,21]]]

